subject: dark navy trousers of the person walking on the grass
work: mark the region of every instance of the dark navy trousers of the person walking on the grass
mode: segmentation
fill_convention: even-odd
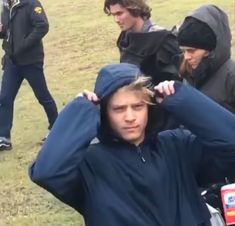
[[[0,137],[11,137],[14,101],[24,79],[28,81],[38,102],[43,106],[49,129],[57,118],[57,107],[46,85],[43,63],[22,66],[6,60],[0,91]]]

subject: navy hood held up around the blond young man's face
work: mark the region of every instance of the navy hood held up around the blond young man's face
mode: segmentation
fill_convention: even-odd
[[[94,92],[100,99],[101,126],[98,134],[98,138],[100,140],[105,142],[112,142],[113,140],[118,139],[117,137],[115,137],[114,133],[110,129],[107,120],[107,100],[119,88],[129,85],[141,75],[142,73],[140,69],[136,65],[129,63],[109,64],[107,66],[104,66],[98,73]],[[149,110],[149,122],[146,128],[146,134],[150,134],[150,131],[152,134],[153,128],[155,130],[158,126],[158,123],[155,123],[154,120],[156,117],[153,117],[153,115],[157,114],[158,116],[160,116],[160,112],[161,110],[158,106],[151,107],[151,110]],[[159,127],[160,126],[162,125],[159,125]]]

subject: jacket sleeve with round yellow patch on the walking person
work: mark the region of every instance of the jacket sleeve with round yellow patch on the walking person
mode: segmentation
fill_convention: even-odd
[[[39,44],[39,42],[49,30],[49,23],[47,20],[46,13],[39,1],[32,1],[28,10],[29,19],[31,20],[33,29],[25,37],[24,41],[20,45],[20,48],[16,50],[16,54],[22,53],[23,51],[29,49],[35,44]]]

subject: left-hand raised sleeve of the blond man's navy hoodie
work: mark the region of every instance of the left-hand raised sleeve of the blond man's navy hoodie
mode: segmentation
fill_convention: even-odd
[[[79,211],[84,197],[79,167],[99,123],[98,108],[83,97],[76,98],[61,111],[29,168],[33,182]]]

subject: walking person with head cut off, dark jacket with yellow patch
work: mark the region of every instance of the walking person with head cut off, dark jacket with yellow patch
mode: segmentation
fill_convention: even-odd
[[[48,20],[38,0],[4,2],[0,36],[3,38],[3,77],[0,93],[0,150],[10,150],[13,105],[26,79],[43,106],[49,129],[57,118],[57,107],[44,77],[42,38],[48,32]]]

